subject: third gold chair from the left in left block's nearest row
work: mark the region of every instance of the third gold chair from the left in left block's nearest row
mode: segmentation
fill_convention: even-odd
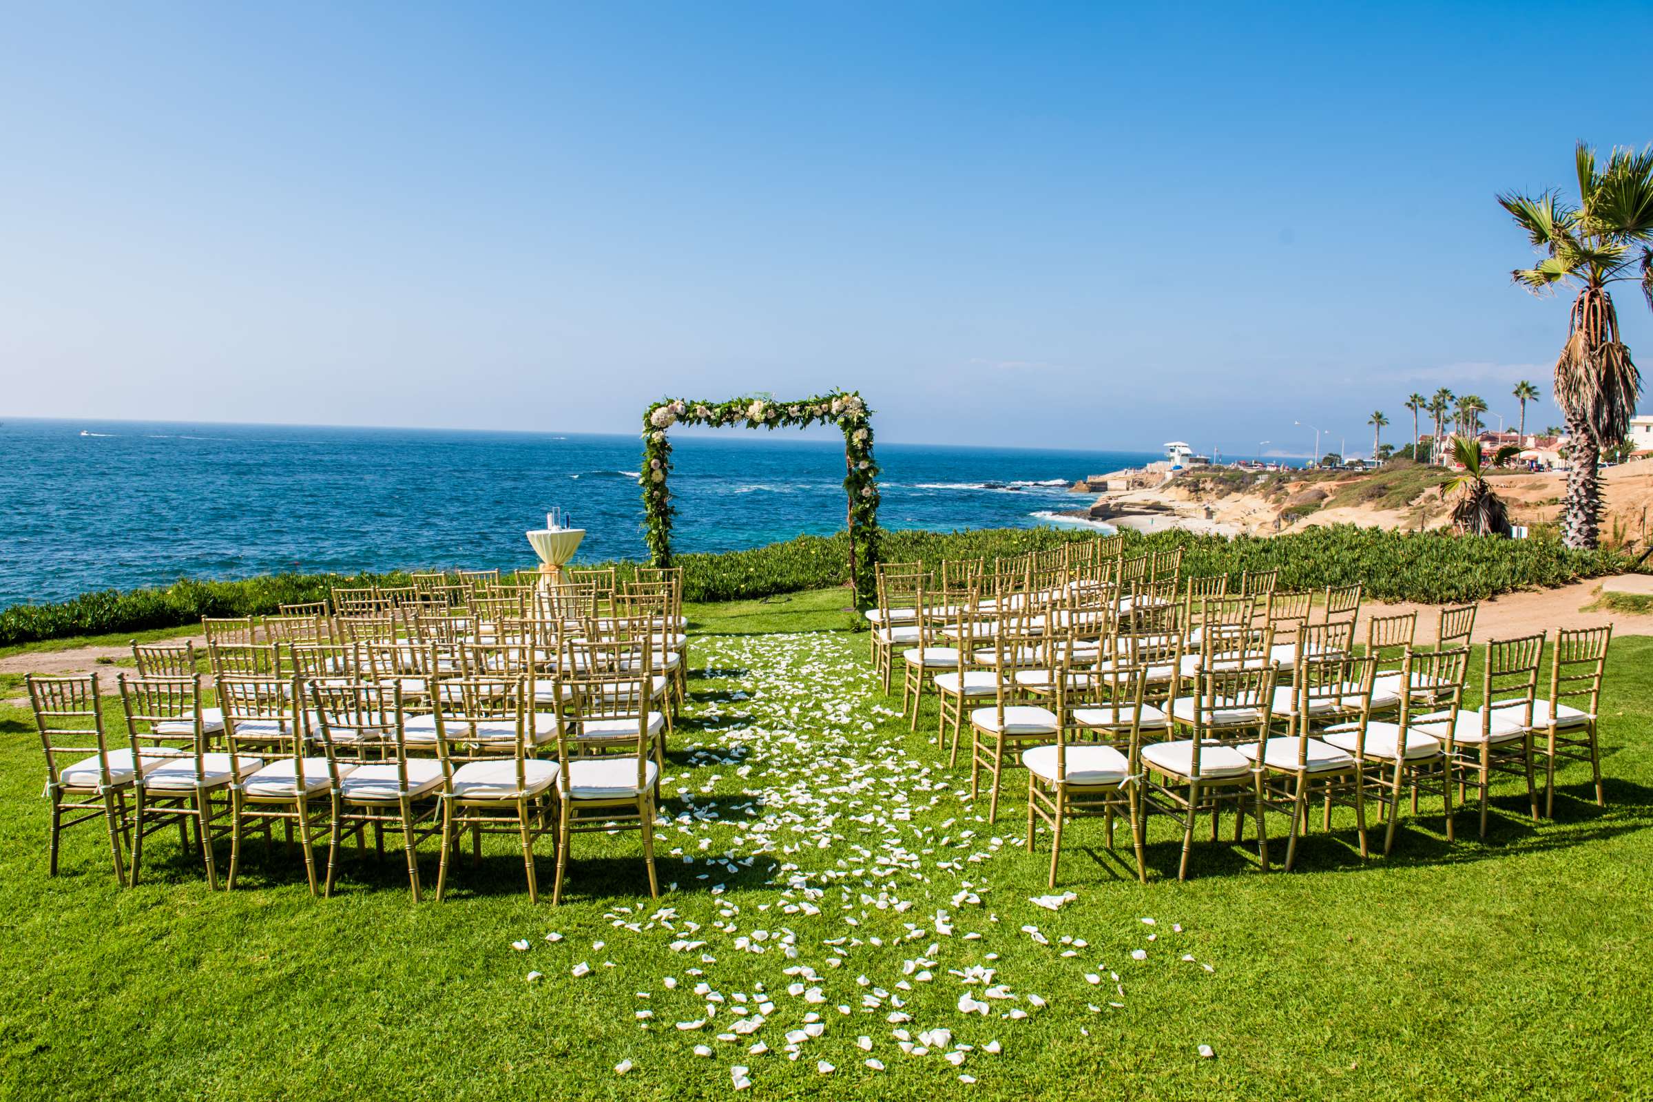
[[[245,777],[230,785],[230,876],[235,887],[241,867],[241,843],[248,828],[281,823],[288,851],[298,828],[304,856],[304,879],[311,895],[319,894],[316,871],[316,831],[331,838],[341,829],[339,781],[354,763],[339,762],[332,740],[298,714],[294,702],[304,701],[298,677],[246,677],[228,674],[218,679],[218,704],[225,714],[225,739],[235,773]],[[316,725],[319,727],[319,724]],[[251,773],[245,765],[258,762]]]

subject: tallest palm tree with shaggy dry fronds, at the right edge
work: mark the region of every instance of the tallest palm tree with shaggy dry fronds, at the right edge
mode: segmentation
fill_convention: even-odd
[[[1537,197],[1499,195],[1498,203],[1526,230],[1542,259],[1511,273],[1534,294],[1557,284],[1577,289],[1567,344],[1555,359],[1555,405],[1567,420],[1567,496],[1562,542],[1595,547],[1602,491],[1602,448],[1630,431],[1641,373],[1618,339],[1618,311],[1608,284],[1635,279],[1653,309],[1653,145],[1640,154],[1615,147],[1602,167],[1595,150],[1574,152],[1579,205],[1554,190]]]

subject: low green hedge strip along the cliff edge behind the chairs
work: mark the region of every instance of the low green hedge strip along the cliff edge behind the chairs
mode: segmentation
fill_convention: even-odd
[[[888,562],[1007,558],[1094,532],[1060,529],[896,530],[883,534]],[[1311,590],[1365,585],[1374,600],[1465,601],[1531,587],[1622,573],[1632,562],[1617,552],[1569,550],[1555,540],[1474,540],[1450,532],[1385,532],[1327,525],[1276,537],[1126,534],[1126,553],[1185,547],[1184,573],[1279,570],[1279,587]],[[841,587],[848,580],[848,535],[800,535],[744,552],[678,555],[684,598],[727,601]],[[613,562],[622,580],[638,563]],[[408,585],[407,573],[263,575],[241,582],[177,582],[165,588],[83,593],[60,605],[15,605],[0,611],[0,646],[79,634],[109,634],[198,623],[202,616],[256,616],[279,605],[324,600],[334,587]],[[851,596],[845,593],[846,603]]]

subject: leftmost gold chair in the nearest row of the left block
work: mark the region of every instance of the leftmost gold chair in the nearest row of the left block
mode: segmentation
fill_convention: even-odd
[[[126,846],[131,844],[126,796],[132,791],[137,768],[157,768],[160,760],[139,760],[131,747],[109,745],[98,705],[98,674],[28,674],[23,681],[40,747],[46,753],[46,800],[51,803],[48,876],[58,874],[63,831],[102,819],[109,831],[114,877],[126,884]]]

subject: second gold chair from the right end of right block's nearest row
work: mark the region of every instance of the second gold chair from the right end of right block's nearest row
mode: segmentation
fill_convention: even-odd
[[[1519,639],[1489,641],[1481,667],[1481,707],[1460,707],[1455,717],[1431,712],[1413,722],[1418,730],[1435,735],[1445,745],[1446,765],[1458,781],[1460,808],[1468,788],[1476,790],[1483,839],[1494,773],[1524,777],[1532,818],[1539,818],[1539,796],[1532,780],[1532,712],[1542,653],[1542,631]]]

